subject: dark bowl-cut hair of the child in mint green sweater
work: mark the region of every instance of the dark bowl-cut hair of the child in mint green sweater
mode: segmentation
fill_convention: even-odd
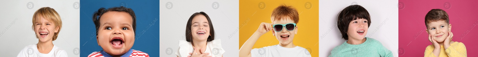
[[[348,24],[350,24],[350,21],[357,20],[359,18],[367,19],[369,24],[368,27],[370,27],[370,23],[372,23],[372,20],[370,20],[369,11],[367,11],[367,9],[363,8],[360,5],[350,5],[338,13],[337,27],[342,34],[342,39],[348,40]]]

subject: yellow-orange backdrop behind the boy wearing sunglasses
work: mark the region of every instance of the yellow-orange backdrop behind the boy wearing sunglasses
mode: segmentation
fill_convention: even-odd
[[[298,32],[293,44],[308,49],[312,57],[319,56],[319,1],[318,0],[239,0],[239,49],[262,22],[272,23],[272,10],[281,4],[290,5],[299,13]],[[257,40],[253,48],[279,44],[269,31]]]

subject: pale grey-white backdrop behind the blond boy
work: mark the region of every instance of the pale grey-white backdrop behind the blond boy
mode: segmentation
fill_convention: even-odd
[[[53,44],[65,49],[68,57],[79,57],[79,0],[0,0],[2,57],[16,57],[25,46],[38,43],[32,18],[42,7],[54,8],[62,18],[63,27]]]

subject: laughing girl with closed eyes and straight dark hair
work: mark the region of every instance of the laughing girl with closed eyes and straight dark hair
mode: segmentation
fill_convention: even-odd
[[[177,57],[222,57],[221,40],[214,40],[211,19],[204,12],[194,13],[186,24],[186,41],[179,41]]]

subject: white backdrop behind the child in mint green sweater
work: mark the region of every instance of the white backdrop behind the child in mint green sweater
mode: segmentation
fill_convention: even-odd
[[[319,0],[319,54],[345,42],[337,28],[337,14],[350,5],[360,5],[370,13],[371,24],[365,37],[376,39],[398,57],[398,0]]]

